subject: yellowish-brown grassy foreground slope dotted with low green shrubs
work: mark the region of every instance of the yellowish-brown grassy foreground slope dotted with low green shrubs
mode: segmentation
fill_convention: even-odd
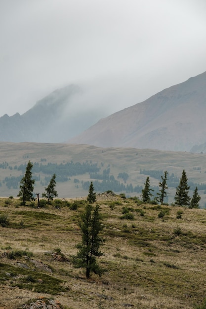
[[[71,210],[74,201],[77,210]],[[98,194],[97,203],[106,238],[99,262],[107,271],[86,280],[71,263],[84,199],[57,199],[38,209],[36,202],[20,206],[18,199],[0,198],[1,308],[40,296],[64,309],[205,308],[206,210],[141,204],[112,193]],[[122,218],[123,208],[132,220]]]

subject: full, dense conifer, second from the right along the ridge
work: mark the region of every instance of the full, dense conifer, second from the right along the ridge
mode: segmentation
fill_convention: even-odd
[[[174,197],[175,205],[178,206],[189,206],[190,197],[188,196],[190,186],[187,184],[187,175],[185,170],[182,171],[182,177],[180,179],[179,185],[176,188],[176,194]]]

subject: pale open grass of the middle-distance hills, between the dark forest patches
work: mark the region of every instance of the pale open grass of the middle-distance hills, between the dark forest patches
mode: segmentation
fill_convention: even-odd
[[[133,187],[142,186],[146,180],[147,175],[140,174],[140,169],[167,170],[169,174],[174,173],[178,178],[181,177],[182,170],[185,169],[189,181],[206,184],[206,154],[134,148],[98,148],[89,145],[71,144],[0,143],[0,163],[7,161],[10,166],[27,164],[29,160],[41,163],[42,158],[46,159],[45,164],[48,162],[61,164],[71,160],[81,163],[85,161],[96,162],[98,166],[103,165],[101,173],[103,169],[109,167],[110,174],[114,175],[115,179],[118,179],[119,173],[127,173],[128,179],[125,185],[132,184]],[[2,184],[0,196],[16,196],[18,194],[19,188],[9,190],[3,183],[3,179],[20,175],[22,175],[22,171],[0,168],[0,182]],[[37,176],[44,180],[44,176],[52,175],[38,173]],[[78,186],[74,182],[75,178],[79,179]],[[152,186],[158,186],[160,180],[150,177]],[[67,182],[57,182],[56,189],[59,197],[85,196],[87,190],[82,189],[82,181],[91,181],[88,173],[72,176]],[[123,182],[123,180],[120,181]],[[176,188],[169,188],[168,190],[169,203],[174,201],[175,190]],[[40,181],[36,181],[35,193],[42,193],[43,191],[44,186],[41,185]],[[202,197],[201,207],[204,208],[206,205],[206,190],[199,189],[199,193]],[[190,196],[192,194],[191,190]],[[130,195],[132,196],[132,193]],[[137,195],[137,193],[133,193],[133,195]]]

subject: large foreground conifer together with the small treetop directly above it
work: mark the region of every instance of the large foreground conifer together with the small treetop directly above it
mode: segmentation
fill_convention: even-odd
[[[84,213],[81,215],[80,229],[82,232],[82,242],[77,245],[79,249],[77,255],[74,257],[73,264],[77,268],[86,269],[86,278],[90,276],[90,272],[101,276],[104,271],[97,264],[97,258],[104,255],[100,251],[100,246],[105,239],[100,235],[103,230],[102,216],[99,205],[92,206],[94,199],[93,185],[89,187],[89,194],[87,197],[88,204],[85,207]]]

